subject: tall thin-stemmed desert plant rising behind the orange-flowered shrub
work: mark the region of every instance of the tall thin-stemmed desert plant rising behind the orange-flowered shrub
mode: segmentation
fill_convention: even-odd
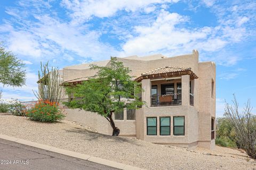
[[[55,67],[49,69],[48,62],[42,64],[41,70],[38,71],[38,92],[34,95],[38,100],[49,100],[50,102],[59,103],[62,97],[62,86],[59,71]]]

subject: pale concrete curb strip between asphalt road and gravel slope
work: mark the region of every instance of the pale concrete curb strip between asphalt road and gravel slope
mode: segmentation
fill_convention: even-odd
[[[0,139],[21,143],[23,145],[52,151],[52,152],[55,152],[55,153],[58,153],[58,154],[67,155],[67,156],[71,156],[71,157],[78,158],[78,159],[88,160],[88,161],[93,162],[93,163],[98,163],[98,164],[102,164],[102,165],[106,165],[106,166],[110,166],[110,167],[114,167],[114,168],[118,168],[118,169],[145,170],[145,169],[130,166],[130,165],[116,163],[114,161],[107,160],[107,159],[102,159],[102,158],[98,158],[98,157],[94,157],[94,156],[90,156],[90,155],[85,155],[85,154],[80,154],[80,153],[73,152],[73,151],[70,151],[70,150],[55,148],[55,147],[52,147],[52,146],[47,146],[47,145],[43,145],[43,144],[40,144],[40,143],[31,142],[31,141],[28,141],[28,140],[9,137],[9,136],[4,135],[4,134],[0,134]]]

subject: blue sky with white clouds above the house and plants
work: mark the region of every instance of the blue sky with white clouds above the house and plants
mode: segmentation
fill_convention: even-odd
[[[178,0],[0,1],[0,41],[27,66],[26,86],[3,98],[35,99],[39,64],[67,65],[110,56],[171,57],[199,51],[217,64],[217,115],[236,94],[256,111],[256,2]]]

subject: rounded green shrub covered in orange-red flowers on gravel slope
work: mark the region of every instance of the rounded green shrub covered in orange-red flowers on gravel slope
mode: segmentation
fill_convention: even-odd
[[[39,122],[56,122],[65,117],[59,109],[59,104],[49,100],[38,101],[26,115],[30,120]]]

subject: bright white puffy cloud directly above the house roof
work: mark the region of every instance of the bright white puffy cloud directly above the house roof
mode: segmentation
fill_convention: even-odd
[[[207,36],[203,31],[190,31],[176,27],[186,21],[187,18],[178,13],[169,13],[162,10],[156,21],[149,27],[135,27],[135,32],[139,36],[132,37],[126,41],[123,45],[123,50],[126,55],[146,55],[166,49],[171,51],[180,49],[191,41]]]

